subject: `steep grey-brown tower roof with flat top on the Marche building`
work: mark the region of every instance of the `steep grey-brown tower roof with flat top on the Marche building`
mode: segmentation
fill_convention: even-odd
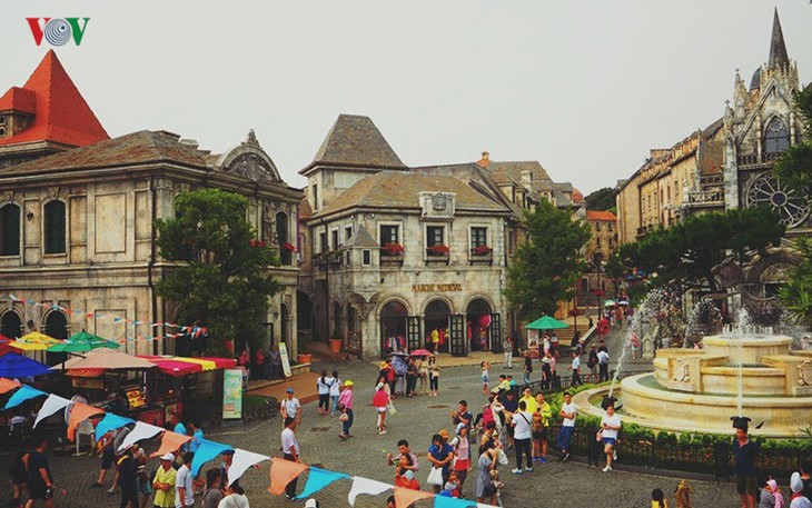
[[[407,169],[369,117],[339,114],[306,173],[315,166]]]

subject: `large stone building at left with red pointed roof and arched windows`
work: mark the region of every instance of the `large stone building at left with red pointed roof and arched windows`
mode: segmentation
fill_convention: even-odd
[[[53,51],[0,98],[0,288],[21,300],[2,299],[4,336],[87,329],[127,339],[128,352],[172,352],[175,340],[148,340],[179,331],[162,325],[177,323],[177,303],[155,291],[174,268],[158,255],[155,221],[174,217],[187,190],[241,193],[263,240],[296,242],[301,191],[280,179],[252,131],[221,155],[166,131],[110,139]],[[290,250],[281,259],[268,338],[295,350],[298,268]]]

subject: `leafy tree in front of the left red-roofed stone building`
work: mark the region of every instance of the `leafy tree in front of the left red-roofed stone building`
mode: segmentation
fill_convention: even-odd
[[[225,340],[261,340],[269,298],[279,289],[267,268],[279,265],[246,220],[248,200],[219,189],[186,192],[176,217],[158,220],[158,248],[177,267],[157,285],[158,295],[181,305],[178,319],[208,328],[206,352],[220,355]]]

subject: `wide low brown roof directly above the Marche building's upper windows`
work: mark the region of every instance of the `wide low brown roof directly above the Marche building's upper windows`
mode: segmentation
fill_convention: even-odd
[[[419,192],[440,191],[456,195],[455,208],[457,210],[508,211],[506,207],[453,177],[380,171],[355,183],[313,217],[323,217],[353,208],[418,210],[420,208]]]

